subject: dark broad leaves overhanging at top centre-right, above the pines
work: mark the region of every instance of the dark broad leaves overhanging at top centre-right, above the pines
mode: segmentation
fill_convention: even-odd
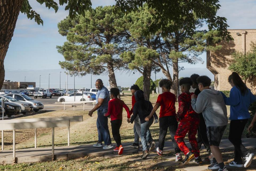
[[[164,2],[164,3],[161,3]],[[191,36],[195,34],[194,24],[195,16],[198,19],[208,24],[209,30],[217,30],[220,36],[226,40],[233,38],[227,31],[229,27],[226,23],[226,18],[216,16],[220,5],[218,0],[214,1],[147,1],[147,0],[116,0],[115,11],[126,12],[139,11],[145,3],[152,9],[151,16],[153,20],[149,22],[151,33],[156,33],[162,30],[164,36],[170,32],[175,32],[180,28],[184,28]],[[184,5],[185,4],[185,5]],[[170,24],[175,23],[175,24]],[[184,26],[184,23],[187,23]]]

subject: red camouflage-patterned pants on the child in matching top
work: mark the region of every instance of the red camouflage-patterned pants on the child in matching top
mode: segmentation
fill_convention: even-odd
[[[197,118],[192,119],[191,117],[185,117],[179,123],[174,138],[177,141],[179,148],[184,153],[184,155],[186,155],[190,151],[183,140],[186,134],[188,133],[189,143],[191,144],[192,147],[192,153],[195,155],[195,157],[199,156],[200,152],[197,144],[197,139],[195,137],[195,135],[197,135],[197,128],[199,122],[200,121]]]

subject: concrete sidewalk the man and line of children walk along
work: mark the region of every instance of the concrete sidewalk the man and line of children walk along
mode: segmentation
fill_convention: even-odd
[[[246,148],[256,148],[256,138],[242,139],[243,145]],[[132,143],[123,143],[124,151],[123,154],[133,154],[139,153],[138,149],[131,147]],[[189,142],[186,142],[187,146],[190,148]],[[115,145],[115,144],[114,144]],[[158,146],[158,143],[156,147]],[[229,142],[228,139],[223,139],[220,144],[221,149],[233,149],[234,146]],[[93,147],[92,144],[89,145],[76,145],[76,146],[66,146],[66,147],[55,147],[54,149],[54,159],[73,159],[84,156],[105,156],[109,154],[117,154],[117,152],[111,149],[102,149],[100,147]],[[171,141],[165,142],[164,153],[174,152],[173,144]],[[1,164],[12,164],[13,162],[13,151],[4,150],[0,151],[0,163]],[[16,162],[43,162],[51,161],[51,147],[50,148],[30,148],[30,149],[17,149],[16,150]]]

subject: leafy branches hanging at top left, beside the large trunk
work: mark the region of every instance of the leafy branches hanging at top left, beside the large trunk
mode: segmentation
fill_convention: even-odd
[[[37,0],[37,2],[41,5],[45,3],[46,8],[53,8],[55,12],[59,9],[58,4],[53,0]],[[85,16],[85,11],[92,11],[90,0],[59,0],[59,5],[63,6],[64,4],[67,4],[65,10],[69,10],[70,18],[74,18],[76,15]],[[28,0],[23,0],[21,13],[26,14],[27,18],[31,20],[35,18],[35,22],[37,22],[38,25],[40,25],[40,23],[43,25],[43,20],[37,12],[32,10]]]

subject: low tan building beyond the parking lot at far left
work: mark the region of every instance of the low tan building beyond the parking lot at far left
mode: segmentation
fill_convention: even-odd
[[[1,89],[27,89],[28,87],[35,87],[35,82],[13,82],[5,80]]]

